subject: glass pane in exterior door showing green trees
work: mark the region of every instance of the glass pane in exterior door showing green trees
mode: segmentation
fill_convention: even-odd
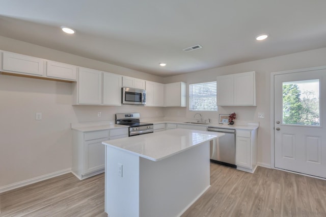
[[[283,82],[283,124],[319,126],[319,79]]]

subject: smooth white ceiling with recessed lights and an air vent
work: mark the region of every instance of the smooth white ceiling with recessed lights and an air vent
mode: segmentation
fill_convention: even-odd
[[[0,3],[2,36],[163,77],[326,47],[325,0]]]

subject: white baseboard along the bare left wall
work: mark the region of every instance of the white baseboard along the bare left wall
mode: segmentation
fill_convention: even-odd
[[[61,176],[63,174],[70,173],[70,172],[71,172],[71,168],[68,168],[68,169],[65,169],[65,170],[49,173],[49,174],[46,174],[46,175],[43,175],[43,176],[38,176],[38,177],[35,177],[35,178],[32,178],[32,179],[28,179],[28,180],[16,182],[16,183],[13,183],[13,184],[8,184],[8,185],[5,185],[5,186],[1,186],[0,187],[0,193],[4,193],[4,192],[10,191],[12,189],[18,188],[18,187],[33,184],[33,183],[43,181],[43,180],[46,180],[46,179],[49,179],[49,178],[53,178],[53,177],[56,177],[56,176]]]

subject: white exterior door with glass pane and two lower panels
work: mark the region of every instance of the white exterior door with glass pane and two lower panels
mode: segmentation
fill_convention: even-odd
[[[275,168],[326,178],[326,70],[274,79]]]

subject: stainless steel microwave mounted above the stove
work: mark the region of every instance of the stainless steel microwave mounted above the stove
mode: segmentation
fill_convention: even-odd
[[[123,87],[122,104],[146,105],[146,90]]]

